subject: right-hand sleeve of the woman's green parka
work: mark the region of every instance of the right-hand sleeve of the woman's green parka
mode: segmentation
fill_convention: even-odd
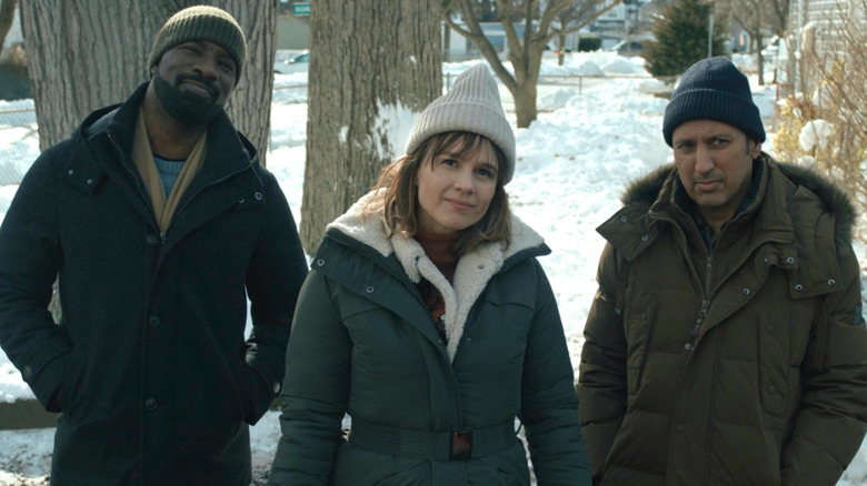
[[[550,283],[538,262],[537,303],[527,336],[521,422],[540,486],[590,486],[575,373]]]

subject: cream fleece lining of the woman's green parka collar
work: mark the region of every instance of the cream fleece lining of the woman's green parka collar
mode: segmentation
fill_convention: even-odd
[[[452,361],[470,308],[490,279],[522,257],[550,253],[545,240],[512,215],[511,244],[507,249],[501,243],[479,245],[460,257],[454,281],[449,283],[415,239],[390,233],[381,214],[362,217],[363,209],[375,198],[381,198],[381,193],[373,191],[358,200],[343,215],[329,224],[326,232],[338,231],[383,257],[393,254],[412,283],[417,284],[423,277],[439,290],[446,303],[444,320],[447,350]]]

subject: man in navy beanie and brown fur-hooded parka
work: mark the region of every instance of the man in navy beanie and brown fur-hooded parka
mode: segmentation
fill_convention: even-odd
[[[833,486],[867,429],[853,204],[761,151],[725,58],[684,73],[662,136],[674,164],[598,227],[577,385],[595,483]]]

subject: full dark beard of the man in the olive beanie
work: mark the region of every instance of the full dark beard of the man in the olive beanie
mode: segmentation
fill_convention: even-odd
[[[211,99],[188,93],[180,89],[180,83],[186,79],[192,79],[206,84],[211,90]],[[157,93],[162,107],[171,118],[186,124],[201,126],[208,124],[222,111],[222,105],[217,104],[217,87],[210,80],[196,74],[178,74],[172,85],[159,73],[153,75],[153,91]]]

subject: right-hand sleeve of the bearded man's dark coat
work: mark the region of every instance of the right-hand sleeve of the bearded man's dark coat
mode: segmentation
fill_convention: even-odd
[[[255,424],[280,391],[286,345],[307,259],[292,213],[277,180],[266,173],[268,206],[247,273],[252,333],[247,340],[248,403]]]

